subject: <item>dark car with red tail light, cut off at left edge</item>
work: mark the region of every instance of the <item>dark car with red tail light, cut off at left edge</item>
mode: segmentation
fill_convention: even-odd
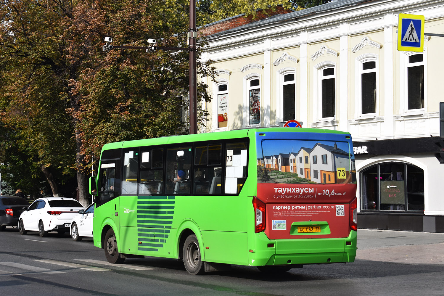
[[[0,231],[6,226],[17,226],[19,224],[20,214],[24,207],[28,207],[29,202],[23,197],[18,196],[0,196]]]

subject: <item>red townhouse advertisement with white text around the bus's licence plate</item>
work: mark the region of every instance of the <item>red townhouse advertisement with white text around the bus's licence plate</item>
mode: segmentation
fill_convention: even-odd
[[[348,237],[356,184],[259,183],[270,239]]]

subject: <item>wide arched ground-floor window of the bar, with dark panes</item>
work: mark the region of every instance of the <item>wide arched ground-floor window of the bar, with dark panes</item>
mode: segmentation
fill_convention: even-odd
[[[403,162],[361,171],[361,211],[424,211],[424,171]]]

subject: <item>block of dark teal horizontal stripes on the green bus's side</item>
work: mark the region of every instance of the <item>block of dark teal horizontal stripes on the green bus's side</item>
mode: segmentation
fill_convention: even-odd
[[[174,196],[139,196],[137,198],[139,251],[159,252],[159,249],[163,248],[168,238],[167,233],[171,231],[170,224],[173,223],[174,198]]]

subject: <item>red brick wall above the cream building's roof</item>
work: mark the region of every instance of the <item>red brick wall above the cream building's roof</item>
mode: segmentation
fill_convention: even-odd
[[[267,17],[274,16],[277,14],[285,14],[292,12],[292,10],[284,9],[282,6],[277,6],[276,10],[273,11],[271,8],[266,10],[267,14],[264,13],[263,10],[259,10],[256,13],[256,17],[253,19],[253,16],[246,17],[245,15],[241,15],[235,18],[231,18],[229,20],[218,22],[217,24],[212,24],[207,27],[203,27],[199,29],[199,36],[208,36],[214,33],[226,31],[232,28],[236,28],[245,24],[249,24],[258,20],[266,19]]]

